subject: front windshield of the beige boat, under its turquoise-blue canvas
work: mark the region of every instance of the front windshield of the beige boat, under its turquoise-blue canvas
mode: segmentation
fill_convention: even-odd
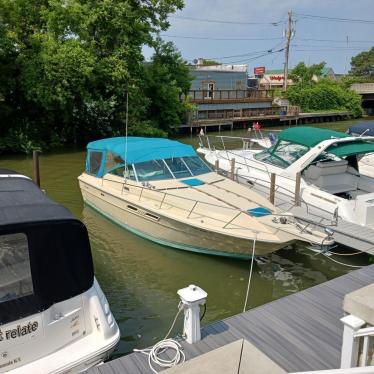
[[[188,178],[211,171],[198,156],[139,162],[133,168],[139,182]]]

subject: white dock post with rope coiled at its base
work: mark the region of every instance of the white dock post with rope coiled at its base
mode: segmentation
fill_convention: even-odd
[[[184,307],[183,335],[189,344],[201,340],[200,305],[204,305],[208,294],[200,287],[190,284],[178,290]]]

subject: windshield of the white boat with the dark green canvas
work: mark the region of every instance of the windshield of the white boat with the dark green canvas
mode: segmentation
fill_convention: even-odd
[[[284,169],[304,156],[308,151],[309,148],[304,145],[280,140],[272,147],[257,153],[254,157],[257,161],[266,162]]]

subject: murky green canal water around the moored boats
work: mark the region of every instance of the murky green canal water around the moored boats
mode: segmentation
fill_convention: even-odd
[[[352,122],[319,124],[345,131]],[[213,134],[213,133],[212,133]],[[245,135],[245,130],[223,135]],[[180,137],[197,145],[195,137]],[[154,344],[164,337],[177,311],[176,291],[191,283],[208,292],[203,324],[240,313],[243,309],[249,262],[204,256],[166,248],[116,226],[83,206],[77,177],[84,169],[84,150],[65,150],[40,157],[42,188],[87,225],[95,271],[121,329],[115,356]],[[32,159],[0,158],[0,168],[32,175]],[[366,255],[340,259],[367,265]],[[306,248],[282,249],[272,261],[256,263],[249,307],[314,286],[352,268],[332,262]],[[338,316],[337,316],[338,318]],[[180,319],[175,331],[181,331]]]

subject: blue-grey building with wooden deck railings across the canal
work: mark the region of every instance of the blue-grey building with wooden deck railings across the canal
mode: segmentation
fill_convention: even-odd
[[[191,74],[194,79],[188,96],[196,106],[189,118],[191,130],[279,116],[271,91],[248,88],[246,65],[203,65],[199,59],[191,66]]]

